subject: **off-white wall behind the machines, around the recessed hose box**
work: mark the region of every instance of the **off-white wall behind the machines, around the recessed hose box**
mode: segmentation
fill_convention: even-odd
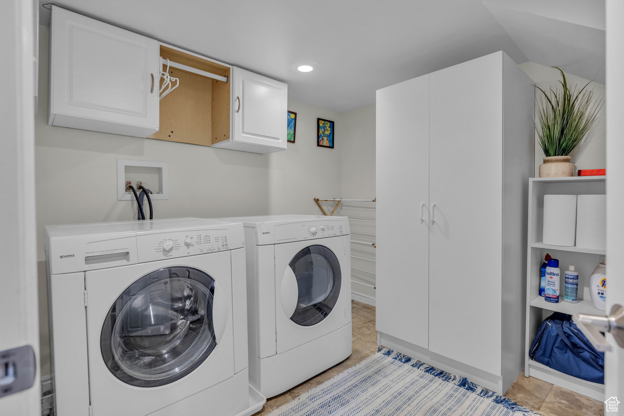
[[[336,120],[339,125],[339,115],[293,100],[288,109],[298,116],[296,142],[289,143],[285,152],[268,155],[49,126],[49,27],[39,29],[35,184],[41,374],[45,375],[50,372],[50,356],[43,226],[136,218],[134,201],[117,201],[118,158],[169,163],[169,200],[154,201],[155,218],[318,215],[313,197],[340,193],[341,142],[334,149],[316,147],[316,118]]]

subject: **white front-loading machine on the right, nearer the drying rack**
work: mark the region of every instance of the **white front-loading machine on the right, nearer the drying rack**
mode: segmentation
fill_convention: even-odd
[[[251,384],[273,397],[351,355],[348,218],[226,220],[245,226]]]

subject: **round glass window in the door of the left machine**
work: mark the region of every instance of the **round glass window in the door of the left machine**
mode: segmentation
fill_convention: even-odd
[[[100,347],[117,379],[157,387],[195,370],[217,346],[212,321],[215,280],[168,267],[135,281],[102,325]]]

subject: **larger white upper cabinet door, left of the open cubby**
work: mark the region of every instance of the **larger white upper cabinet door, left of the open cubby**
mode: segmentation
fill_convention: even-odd
[[[157,41],[53,6],[50,44],[51,125],[158,131]]]

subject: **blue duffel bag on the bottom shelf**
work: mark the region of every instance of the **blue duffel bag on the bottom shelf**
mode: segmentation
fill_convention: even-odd
[[[596,351],[572,322],[572,316],[561,312],[553,313],[542,322],[529,357],[579,379],[605,382],[605,354]]]

